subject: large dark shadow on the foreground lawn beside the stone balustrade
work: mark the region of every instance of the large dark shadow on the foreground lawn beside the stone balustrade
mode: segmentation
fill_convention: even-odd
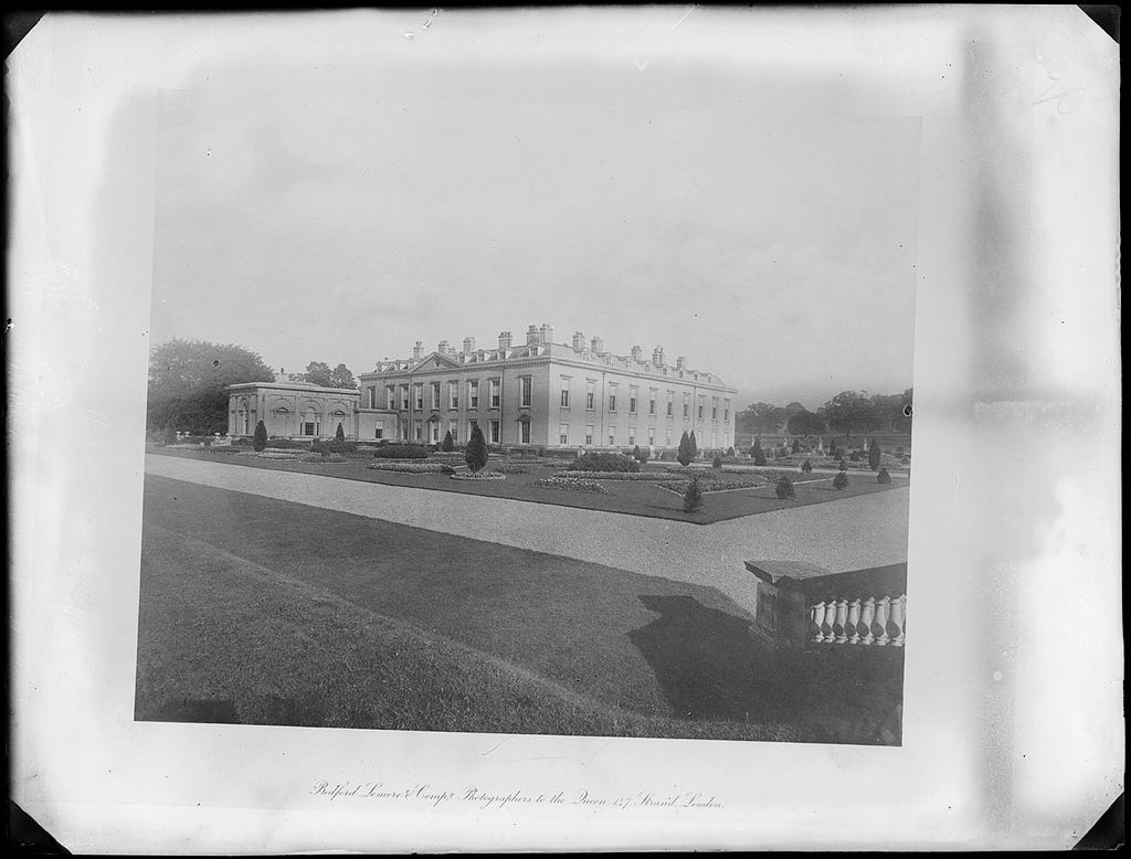
[[[659,617],[628,637],[655,670],[673,715],[786,723],[815,743],[899,743],[901,651],[845,659],[775,650],[753,636],[748,621],[691,597],[639,599]]]

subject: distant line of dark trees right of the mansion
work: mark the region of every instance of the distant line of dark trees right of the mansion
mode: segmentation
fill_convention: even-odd
[[[872,394],[867,391],[841,391],[817,411],[800,402],[776,406],[756,402],[735,415],[735,430],[751,435],[820,435],[826,432],[860,433],[910,432],[912,392]]]

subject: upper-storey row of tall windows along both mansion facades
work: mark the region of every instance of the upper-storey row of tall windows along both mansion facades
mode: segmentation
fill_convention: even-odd
[[[570,408],[570,378],[562,376],[562,388],[561,388],[561,408]],[[472,379],[467,383],[467,408],[477,409],[480,407],[480,380]],[[424,410],[424,383],[414,382],[411,385],[412,389],[412,401],[413,407],[417,411]],[[637,414],[637,400],[639,399],[639,388],[637,385],[629,387],[629,414]],[[614,382],[610,384],[608,391],[608,411],[616,413],[616,397],[619,393],[619,385]],[[385,388],[385,402],[388,409],[402,409],[406,410],[408,408],[408,394],[409,385],[386,385]],[[440,382],[429,382],[429,407],[433,410],[439,410],[441,408],[440,401],[441,394],[441,383]],[[653,388],[648,392],[648,414],[656,414],[656,400],[659,394],[659,389]],[[530,376],[519,376],[518,379],[518,405],[519,407],[529,407],[532,399],[532,379]],[[706,418],[706,394],[700,393],[697,404],[697,417],[700,420]],[[587,411],[596,410],[597,391],[596,382],[587,381],[585,391],[585,408]],[[502,402],[502,390],[501,383],[498,379],[487,380],[487,404],[491,408],[499,408]],[[448,382],[448,398],[447,407],[449,409],[459,408],[459,382]],[[710,407],[710,419],[718,420],[718,406],[719,398],[711,397]],[[377,408],[377,388],[369,389],[369,407],[371,409]],[[667,417],[675,416],[675,391],[667,391]],[[691,416],[691,394],[683,394],[683,417],[688,418]],[[723,420],[728,422],[731,419],[731,400],[729,398],[723,399]]]

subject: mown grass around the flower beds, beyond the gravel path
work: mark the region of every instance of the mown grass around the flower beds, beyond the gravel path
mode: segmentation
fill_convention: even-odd
[[[796,497],[793,501],[779,500],[774,494],[774,486],[766,485],[753,489],[709,493],[705,496],[701,511],[698,513],[684,513],[683,498],[679,494],[661,488],[654,483],[601,480],[601,485],[608,491],[607,495],[567,492],[534,485],[541,478],[550,477],[558,471],[566,470],[568,460],[563,460],[561,466],[529,466],[527,474],[508,474],[506,480],[473,481],[452,480],[446,475],[408,475],[370,470],[365,466],[372,463],[374,460],[364,455],[357,455],[347,462],[323,465],[297,460],[259,459],[257,457],[238,455],[234,453],[210,453],[207,450],[164,450],[159,446],[150,449],[149,452],[169,457],[201,459],[209,462],[221,462],[244,468],[303,471],[305,474],[342,477],[349,480],[365,480],[392,486],[414,486],[440,492],[515,498],[517,501],[529,501],[538,504],[561,504],[571,507],[584,507],[586,510],[606,510],[613,513],[674,519],[697,524],[710,524],[727,519],[737,519],[739,517],[803,506],[805,504],[821,504],[839,498],[849,498],[854,495],[886,492],[907,485],[905,480],[887,485],[879,484],[875,481],[875,475],[867,472],[866,475],[849,475],[847,488],[837,489],[832,486],[832,477],[830,475],[803,475],[797,472],[796,475],[791,475],[796,487]],[[492,459],[487,463],[487,467],[491,468],[499,461],[503,460]],[[506,461],[518,462],[520,460]],[[654,465],[649,465],[646,468],[648,470],[661,470],[658,466]],[[661,472],[663,471],[661,470]],[[691,472],[688,471],[688,474]],[[673,472],[674,478],[681,476],[683,475],[680,472]]]

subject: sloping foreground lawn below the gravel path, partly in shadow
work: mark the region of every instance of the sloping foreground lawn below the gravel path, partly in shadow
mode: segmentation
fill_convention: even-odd
[[[713,588],[147,475],[136,718],[897,743],[900,651]]]

